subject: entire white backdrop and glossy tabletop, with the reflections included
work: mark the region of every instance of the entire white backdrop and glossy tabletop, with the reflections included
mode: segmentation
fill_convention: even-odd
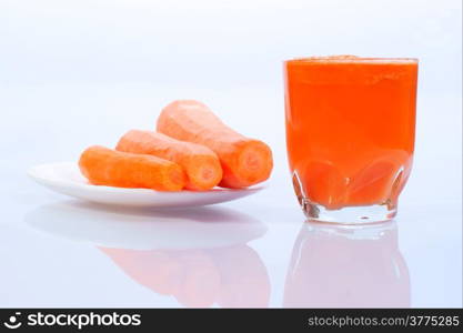
[[[0,2],[0,306],[462,306],[460,0],[94,3]],[[294,198],[281,61],[336,53],[420,59],[395,224],[308,224]],[[177,98],[268,142],[269,188],[108,209],[27,176],[152,129]]]

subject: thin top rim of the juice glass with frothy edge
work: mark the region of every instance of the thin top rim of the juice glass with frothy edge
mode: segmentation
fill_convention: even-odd
[[[407,57],[356,57],[356,56],[320,56],[298,57],[284,60],[283,63],[417,63],[417,58]]]

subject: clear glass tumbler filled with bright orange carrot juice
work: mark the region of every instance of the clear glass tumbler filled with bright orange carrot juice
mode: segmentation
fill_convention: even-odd
[[[310,220],[385,221],[412,168],[417,60],[312,57],[284,62],[286,148]]]

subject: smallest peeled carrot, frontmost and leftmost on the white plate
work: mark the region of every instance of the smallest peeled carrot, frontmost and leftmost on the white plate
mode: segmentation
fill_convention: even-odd
[[[79,167],[95,185],[180,191],[185,184],[184,172],[177,163],[100,145],[88,148],[80,157]]]

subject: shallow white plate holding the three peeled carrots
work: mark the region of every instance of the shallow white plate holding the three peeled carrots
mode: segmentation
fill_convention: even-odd
[[[89,184],[79,168],[72,162],[61,162],[33,167],[28,174],[39,184],[56,192],[74,198],[118,205],[182,208],[213,204],[251,195],[263,186],[249,189],[213,189],[211,191],[194,192],[159,192],[149,189],[124,189],[112,186],[97,186]]]

